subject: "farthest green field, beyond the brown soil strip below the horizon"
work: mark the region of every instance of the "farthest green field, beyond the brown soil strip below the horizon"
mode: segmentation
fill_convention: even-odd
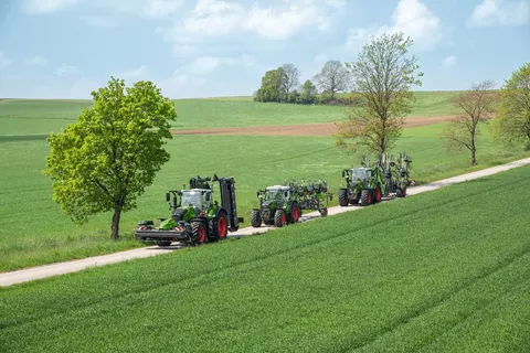
[[[418,92],[412,117],[451,115],[447,99],[454,92]],[[252,97],[178,99],[174,129],[296,125],[343,119],[332,106],[255,103]],[[0,100],[1,135],[59,132],[73,122],[91,100]]]

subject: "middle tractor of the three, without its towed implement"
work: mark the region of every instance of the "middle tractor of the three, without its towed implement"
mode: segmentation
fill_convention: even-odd
[[[287,223],[296,223],[301,216],[301,207],[288,185],[274,185],[256,192],[259,208],[251,213],[251,225],[255,228],[265,225],[283,227]]]

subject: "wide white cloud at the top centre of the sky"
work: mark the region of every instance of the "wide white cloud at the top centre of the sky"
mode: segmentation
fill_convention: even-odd
[[[267,40],[287,40],[305,31],[325,31],[342,15],[344,0],[282,0],[248,4],[235,1],[199,0],[191,13],[157,32],[174,43],[177,56],[197,54],[220,36],[244,33]]]

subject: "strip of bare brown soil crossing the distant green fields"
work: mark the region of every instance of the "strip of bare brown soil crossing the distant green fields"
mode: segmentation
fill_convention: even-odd
[[[405,127],[415,128],[448,121],[455,116],[406,118]],[[243,128],[210,128],[195,130],[172,130],[173,135],[275,135],[326,137],[337,132],[335,122],[301,124],[285,126],[250,126]]]

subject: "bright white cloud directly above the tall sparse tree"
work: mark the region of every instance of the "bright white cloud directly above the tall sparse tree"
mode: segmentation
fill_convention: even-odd
[[[391,24],[379,29],[351,29],[344,47],[357,47],[367,42],[371,35],[403,32],[414,40],[414,49],[424,51],[436,46],[443,39],[439,18],[420,0],[401,0],[391,15]]]

